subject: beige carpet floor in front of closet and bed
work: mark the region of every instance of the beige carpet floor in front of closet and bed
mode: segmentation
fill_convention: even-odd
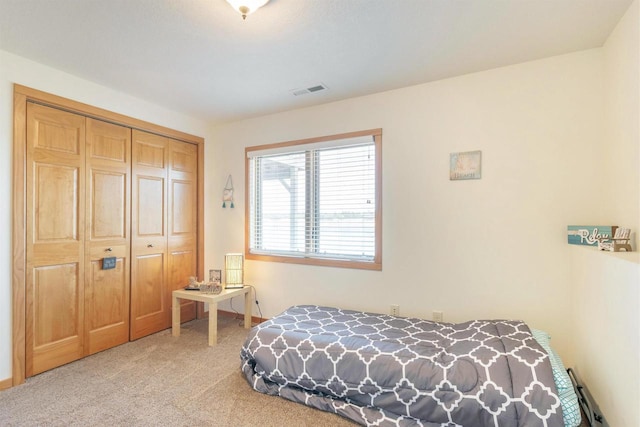
[[[166,330],[28,378],[0,392],[1,426],[354,426],[253,391],[240,372],[247,330],[219,317]]]

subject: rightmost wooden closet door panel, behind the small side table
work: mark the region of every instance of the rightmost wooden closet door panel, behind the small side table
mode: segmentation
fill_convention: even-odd
[[[198,239],[198,147],[171,140],[169,145],[169,292],[181,289],[196,276]],[[198,278],[199,280],[208,279]],[[182,301],[180,320],[196,317],[196,302]],[[170,322],[170,319],[169,319]]]

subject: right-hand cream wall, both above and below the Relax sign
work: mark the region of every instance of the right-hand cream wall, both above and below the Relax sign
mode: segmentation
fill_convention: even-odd
[[[607,224],[640,232],[640,8],[603,48]],[[637,240],[636,240],[637,243]],[[636,244],[637,247],[637,244]],[[640,422],[640,256],[571,247],[574,368],[611,426]]]

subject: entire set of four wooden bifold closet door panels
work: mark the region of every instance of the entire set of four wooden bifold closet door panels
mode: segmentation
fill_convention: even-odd
[[[18,379],[171,327],[171,292],[198,271],[201,203],[199,138],[25,102]],[[195,316],[184,302],[181,319]]]

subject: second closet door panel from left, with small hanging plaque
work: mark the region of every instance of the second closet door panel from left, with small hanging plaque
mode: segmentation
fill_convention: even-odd
[[[131,129],[88,118],[86,170],[85,355],[89,355],[129,341]],[[115,258],[113,268],[103,268],[105,257]]]

